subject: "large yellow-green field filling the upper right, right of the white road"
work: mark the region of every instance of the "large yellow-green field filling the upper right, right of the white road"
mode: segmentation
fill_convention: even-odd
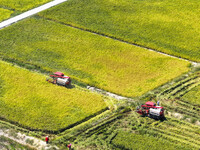
[[[200,61],[197,0],[69,0],[40,16]]]

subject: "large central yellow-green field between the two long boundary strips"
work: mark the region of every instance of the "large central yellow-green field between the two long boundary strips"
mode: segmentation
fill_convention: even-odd
[[[189,70],[189,62],[53,21],[30,18],[0,31],[0,54],[139,96]]]

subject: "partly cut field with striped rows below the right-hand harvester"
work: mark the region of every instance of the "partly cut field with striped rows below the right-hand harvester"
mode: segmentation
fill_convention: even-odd
[[[79,148],[92,149],[198,149],[200,127],[168,117],[164,121],[141,117],[136,112],[124,114],[112,123],[88,130],[74,141]],[[84,142],[82,142],[84,141]]]

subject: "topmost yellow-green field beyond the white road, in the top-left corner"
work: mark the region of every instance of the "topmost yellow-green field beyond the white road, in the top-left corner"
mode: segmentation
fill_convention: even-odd
[[[1,7],[8,7],[17,11],[26,11],[33,7],[37,7],[51,0],[1,0]]]

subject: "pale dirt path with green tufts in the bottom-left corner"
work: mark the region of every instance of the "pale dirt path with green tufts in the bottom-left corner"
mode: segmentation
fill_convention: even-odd
[[[15,133],[14,131],[11,131],[9,129],[6,129],[6,130],[0,129],[0,136],[4,136],[6,138],[9,138],[9,139],[19,143],[19,144],[26,145],[26,146],[29,146],[31,148],[38,149],[38,150],[59,149],[57,146],[52,146],[50,144],[46,144],[45,141],[42,141],[40,139],[31,137],[31,136],[27,136],[20,132]]]

